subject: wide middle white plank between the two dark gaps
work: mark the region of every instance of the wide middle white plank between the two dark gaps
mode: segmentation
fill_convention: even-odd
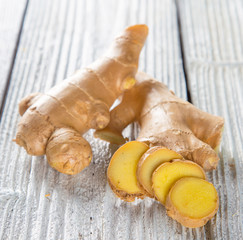
[[[156,201],[117,199],[106,180],[116,146],[94,139],[92,131],[86,134],[92,163],[73,177],[11,142],[19,120],[17,102],[23,96],[45,91],[86,66],[119,31],[135,23],[150,28],[140,69],[186,98],[174,1],[30,0],[1,122],[0,238],[210,239],[211,225],[181,227]],[[132,129],[127,134],[134,136]]]

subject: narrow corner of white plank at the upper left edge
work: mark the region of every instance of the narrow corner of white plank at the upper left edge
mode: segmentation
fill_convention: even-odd
[[[0,0],[0,106],[15,54],[26,0]]]

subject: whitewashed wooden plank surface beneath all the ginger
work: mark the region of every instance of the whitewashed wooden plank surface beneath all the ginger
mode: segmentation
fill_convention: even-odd
[[[150,29],[140,69],[225,119],[208,174],[220,207],[202,228],[182,227],[151,199],[114,197],[106,168],[117,147],[92,131],[94,159],[74,177],[12,142],[22,97],[91,63],[136,23]],[[243,239],[242,0],[0,0],[0,105],[0,239]]]

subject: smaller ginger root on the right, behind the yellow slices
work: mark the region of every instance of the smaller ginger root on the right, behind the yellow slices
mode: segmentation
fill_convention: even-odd
[[[136,80],[137,84],[124,92],[121,103],[111,111],[109,125],[96,131],[95,136],[123,144],[123,129],[138,121],[137,141],[169,148],[204,170],[215,169],[223,118],[199,110],[145,73],[138,73]]]

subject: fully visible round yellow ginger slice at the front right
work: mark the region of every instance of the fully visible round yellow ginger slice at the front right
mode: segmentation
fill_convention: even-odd
[[[213,184],[194,177],[177,181],[166,199],[167,214],[190,228],[205,225],[216,214],[218,206],[218,194]]]

